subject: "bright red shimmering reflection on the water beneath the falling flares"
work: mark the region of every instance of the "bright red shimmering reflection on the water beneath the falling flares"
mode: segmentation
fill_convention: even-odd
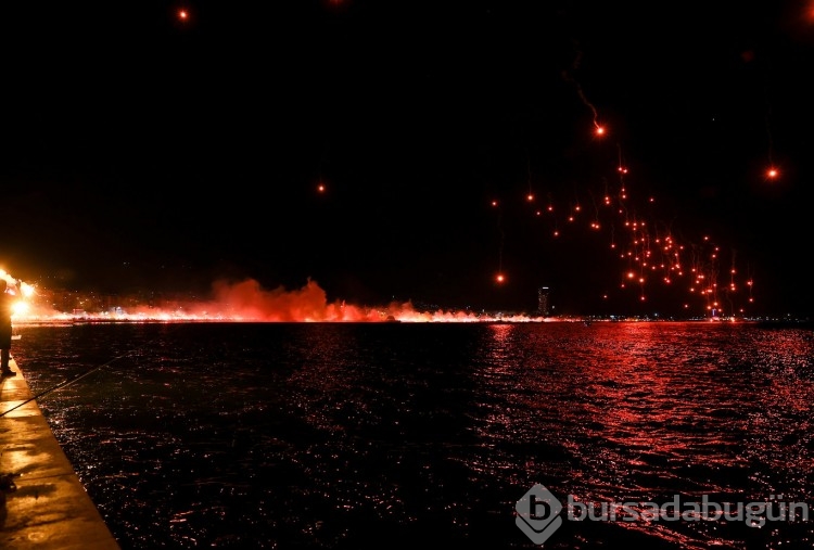
[[[669,501],[676,493],[745,502],[812,497],[810,331],[689,322],[495,327],[483,355],[479,434],[495,448],[526,449],[527,458],[519,464],[496,453],[474,464],[479,472],[509,471],[518,483],[545,481],[562,496],[597,503]],[[619,527],[683,548],[727,537],[720,522]]]

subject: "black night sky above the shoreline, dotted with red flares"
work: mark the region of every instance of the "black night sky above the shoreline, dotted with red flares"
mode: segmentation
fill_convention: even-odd
[[[13,277],[311,279],[473,309],[533,309],[548,285],[562,312],[702,311],[689,274],[620,286],[637,220],[654,248],[720,246],[725,309],[814,311],[814,5],[17,3],[0,13]],[[624,215],[603,204],[622,189]]]

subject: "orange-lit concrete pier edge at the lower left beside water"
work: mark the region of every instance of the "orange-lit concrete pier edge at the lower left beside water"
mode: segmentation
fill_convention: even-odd
[[[0,548],[118,550],[17,374],[0,380]]]

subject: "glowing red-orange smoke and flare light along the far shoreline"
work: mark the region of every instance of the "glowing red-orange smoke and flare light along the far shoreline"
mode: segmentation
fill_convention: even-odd
[[[15,322],[49,321],[234,321],[234,322],[474,322],[542,321],[525,315],[475,314],[468,310],[419,311],[410,302],[379,306],[329,302],[319,284],[308,280],[304,286],[267,290],[253,279],[239,282],[216,281],[212,297],[200,302],[166,300],[142,305],[124,299],[103,310],[59,311],[37,292],[24,296],[15,308]],[[125,305],[128,304],[128,305]]]

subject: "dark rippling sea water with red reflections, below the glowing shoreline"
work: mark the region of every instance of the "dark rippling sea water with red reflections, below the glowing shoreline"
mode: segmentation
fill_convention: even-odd
[[[596,510],[674,498],[814,508],[814,333],[801,328],[20,333],[12,354],[123,549],[540,548],[516,524],[535,484]],[[814,514],[797,510],[763,526],[563,511],[543,548],[812,548]]]

